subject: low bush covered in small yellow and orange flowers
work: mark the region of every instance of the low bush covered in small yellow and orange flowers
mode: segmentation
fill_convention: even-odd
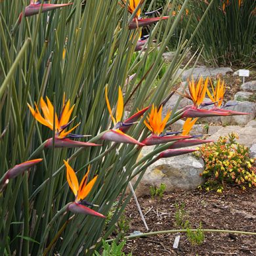
[[[205,162],[202,173],[205,190],[223,192],[225,183],[237,184],[243,190],[245,186],[256,186],[255,167],[252,166],[255,160],[249,157],[249,149],[236,139],[238,135],[230,133],[200,148]]]

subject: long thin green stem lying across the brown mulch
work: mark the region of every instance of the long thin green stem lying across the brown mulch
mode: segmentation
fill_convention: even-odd
[[[196,232],[197,229],[190,229],[192,232]],[[186,229],[173,229],[173,230],[161,230],[155,232],[142,233],[137,235],[125,236],[124,239],[133,239],[140,238],[144,236],[154,236],[158,234],[172,234],[172,233],[184,233],[187,232]],[[202,232],[210,232],[210,233],[231,233],[231,234],[245,234],[245,235],[253,235],[256,236],[256,232],[246,232],[246,231],[238,231],[238,230],[221,230],[221,229],[202,229]],[[114,241],[114,239],[106,240],[106,242],[110,243]]]

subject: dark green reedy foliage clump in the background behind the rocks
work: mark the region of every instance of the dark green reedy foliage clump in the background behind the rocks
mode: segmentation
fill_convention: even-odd
[[[192,0],[190,32],[198,25],[210,1]],[[184,16],[186,18],[186,16]],[[203,45],[206,62],[249,66],[256,60],[256,2],[253,0],[213,1],[203,26],[193,39],[194,49]]]

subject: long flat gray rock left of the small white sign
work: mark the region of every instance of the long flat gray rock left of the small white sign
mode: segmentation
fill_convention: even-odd
[[[206,66],[197,66],[196,68],[190,68],[182,74],[182,80],[186,81],[188,77],[193,75],[194,79],[197,79],[202,75],[203,78],[213,75],[225,75],[228,72],[233,72],[232,68],[207,68]]]

